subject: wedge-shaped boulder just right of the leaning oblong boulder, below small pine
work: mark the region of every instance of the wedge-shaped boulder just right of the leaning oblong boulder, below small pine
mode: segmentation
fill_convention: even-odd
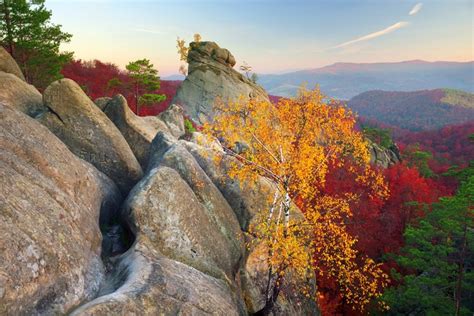
[[[135,115],[120,94],[109,100],[103,111],[125,137],[142,168],[146,168],[150,144],[159,130],[149,121]]]

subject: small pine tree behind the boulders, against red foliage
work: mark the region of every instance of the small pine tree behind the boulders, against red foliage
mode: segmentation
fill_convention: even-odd
[[[126,68],[132,78],[132,93],[137,114],[140,113],[140,106],[152,105],[166,99],[163,94],[153,93],[160,88],[160,77],[158,77],[158,70],[153,68],[153,64],[148,59],[130,62]]]

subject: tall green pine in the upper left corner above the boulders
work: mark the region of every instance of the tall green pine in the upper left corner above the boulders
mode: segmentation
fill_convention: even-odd
[[[72,35],[52,24],[44,0],[0,0],[0,45],[20,66],[25,78],[39,89],[62,78],[60,71],[72,53],[60,52]]]

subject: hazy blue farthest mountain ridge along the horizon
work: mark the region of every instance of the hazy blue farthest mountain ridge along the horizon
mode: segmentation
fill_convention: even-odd
[[[261,74],[258,82],[269,94],[279,96],[295,95],[303,83],[309,87],[319,84],[330,97],[345,100],[370,90],[451,88],[474,92],[474,61],[335,63],[285,74]]]

